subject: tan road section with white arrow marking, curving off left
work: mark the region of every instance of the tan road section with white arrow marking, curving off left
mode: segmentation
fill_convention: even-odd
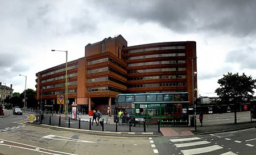
[[[50,130],[22,124],[26,118],[0,119],[0,154],[155,154],[148,138]]]

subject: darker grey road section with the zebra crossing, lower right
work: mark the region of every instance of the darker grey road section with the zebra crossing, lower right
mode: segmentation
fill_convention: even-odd
[[[152,138],[159,154],[256,154],[256,129],[191,137]]]

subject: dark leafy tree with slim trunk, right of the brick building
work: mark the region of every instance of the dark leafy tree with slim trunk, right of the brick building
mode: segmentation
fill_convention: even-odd
[[[247,98],[253,97],[256,88],[256,79],[246,76],[244,73],[240,76],[228,72],[228,75],[218,80],[220,88],[215,90],[222,102],[234,104],[234,123],[237,123],[237,106]]]

